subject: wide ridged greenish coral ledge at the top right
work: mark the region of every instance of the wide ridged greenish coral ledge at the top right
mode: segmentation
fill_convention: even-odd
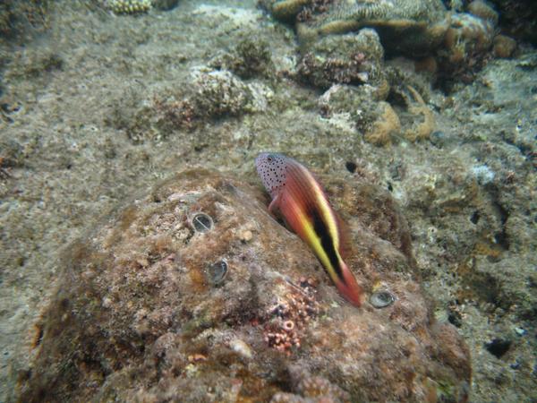
[[[445,3],[445,2],[444,2]],[[262,0],[269,13],[294,22],[303,52],[325,37],[370,28],[389,56],[405,56],[438,73],[442,80],[470,81],[494,55],[509,57],[516,41],[498,35],[494,8],[474,0],[448,10],[440,0],[303,1]],[[498,39],[497,39],[498,38]],[[351,59],[352,60],[352,59]]]

